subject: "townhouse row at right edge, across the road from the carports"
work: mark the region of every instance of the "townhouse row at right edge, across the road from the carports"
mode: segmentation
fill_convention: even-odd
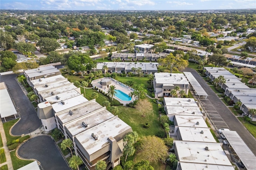
[[[250,115],[250,109],[256,109],[256,89],[251,89],[245,83],[242,83],[242,78],[238,78],[223,67],[204,67],[206,76],[211,80],[218,78],[220,75],[224,76],[225,83],[220,83],[222,89],[225,90],[225,95],[229,96],[234,103],[240,101],[242,106],[240,110],[244,115],[248,115],[252,121],[256,121],[256,115]]]

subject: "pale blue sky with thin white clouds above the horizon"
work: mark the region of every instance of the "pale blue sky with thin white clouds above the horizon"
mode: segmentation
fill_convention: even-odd
[[[14,10],[223,10],[256,9],[256,0],[0,0]]]

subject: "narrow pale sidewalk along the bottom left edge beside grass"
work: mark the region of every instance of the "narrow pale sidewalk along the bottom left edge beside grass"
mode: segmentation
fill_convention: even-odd
[[[6,141],[6,136],[5,136],[2,120],[0,121],[0,132],[1,132],[2,142],[3,142],[3,145],[4,145],[2,148],[4,148],[4,153],[5,153],[5,156],[6,156],[6,162],[1,164],[1,166],[7,164],[8,170],[13,170],[12,159],[11,159],[11,156],[10,156],[9,149],[7,147],[7,141]]]

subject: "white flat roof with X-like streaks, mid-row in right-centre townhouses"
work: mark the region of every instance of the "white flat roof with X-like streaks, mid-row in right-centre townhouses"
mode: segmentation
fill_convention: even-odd
[[[204,118],[200,116],[175,115],[178,127],[204,127],[208,128]],[[196,125],[196,123],[199,123]]]

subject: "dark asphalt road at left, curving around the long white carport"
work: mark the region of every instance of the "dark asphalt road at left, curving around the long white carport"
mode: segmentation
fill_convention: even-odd
[[[1,75],[1,82],[5,82],[12,100],[18,113],[20,114],[20,121],[12,128],[13,135],[28,134],[39,128],[42,123],[38,119],[36,111],[28,97],[23,93],[22,89],[15,80],[16,74]],[[1,106],[3,107],[3,106]]]

